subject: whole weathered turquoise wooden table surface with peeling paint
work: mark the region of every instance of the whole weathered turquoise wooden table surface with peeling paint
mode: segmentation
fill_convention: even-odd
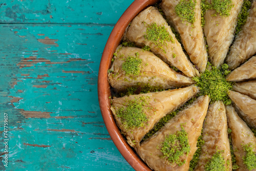
[[[0,170],[134,170],[97,96],[106,40],[132,2],[0,1]]]

